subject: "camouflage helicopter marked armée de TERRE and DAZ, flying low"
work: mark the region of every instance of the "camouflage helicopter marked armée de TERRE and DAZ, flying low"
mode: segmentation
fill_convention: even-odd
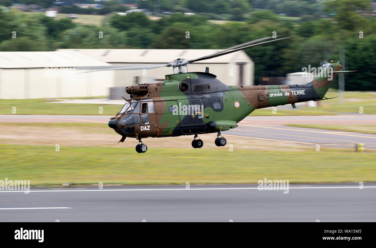
[[[203,147],[203,141],[197,139],[199,134],[217,133],[215,145],[226,145],[226,138],[221,131],[238,127],[238,122],[255,109],[291,104],[303,101],[326,100],[325,93],[342,66],[337,63],[321,63],[317,77],[307,84],[270,85],[270,86],[227,86],[217,77],[205,72],[188,72],[187,65],[196,61],[215,58],[250,47],[267,44],[286,38],[265,37],[225,49],[215,54],[193,60],[178,58],[166,64],[144,64],[136,66],[102,66],[77,67],[91,69],[88,72],[102,70],[136,70],[172,67],[173,74],[165,75],[165,81],[135,84],[126,87],[130,99],[123,108],[110,118],[108,126],[122,136],[136,138],[138,153],[147,151],[142,138],[194,135],[192,147]],[[263,42],[260,42],[263,41]],[[255,43],[255,44],[253,44]],[[183,71],[183,66],[187,72]],[[175,68],[178,71],[175,73]],[[331,75],[331,77],[329,77]]]

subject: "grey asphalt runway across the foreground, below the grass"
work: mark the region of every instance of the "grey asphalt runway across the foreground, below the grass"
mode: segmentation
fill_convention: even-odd
[[[154,185],[0,191],[2,222],[375,222],[376,184]]]

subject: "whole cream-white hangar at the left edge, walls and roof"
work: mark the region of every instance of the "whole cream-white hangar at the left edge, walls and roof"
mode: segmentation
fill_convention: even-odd
[[[76,66],[109,66],[79,52],[0,52],[0,98],[107,96],[114,72],[77,74]]]

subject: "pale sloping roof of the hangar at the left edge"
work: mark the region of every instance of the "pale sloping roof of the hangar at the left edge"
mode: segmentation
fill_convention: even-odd
[[[109,66],[79,52],[0,52],[0,68]]]

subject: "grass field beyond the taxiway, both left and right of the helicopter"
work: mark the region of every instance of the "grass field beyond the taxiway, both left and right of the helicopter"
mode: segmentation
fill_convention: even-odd
[[[327,93],[327,97],[337,96],[337,92]],[[101,96],[103,98],[105,96]],[[98,98],[98,97],[86,97]],[[358,98],[360,101],[350,101]],[[70,99],[70,98],[65,98]],[[80,98],[74,98],[80,99]],[[82,97],[81,99],[85,99]],[[18,115],[115,115],[121,105],[115,104],[71,104],[71,103],[47,103],[53,99],[25,99],[5,100],[0,99],[0,114],[12,114],[12,107],[16,107]],[[99,107],[103,107],[103,113],[99,114]],[[320,102],[318,107],[299,107],[298,109],[279,109],[273,114],[270,108],[257,109],[251,115],[338,115],[340,113],[359,113],[359,107],[363,107],[363,113],[376,114],[376,94],[373,93],[344,93],[344,102],[338,98]]]

